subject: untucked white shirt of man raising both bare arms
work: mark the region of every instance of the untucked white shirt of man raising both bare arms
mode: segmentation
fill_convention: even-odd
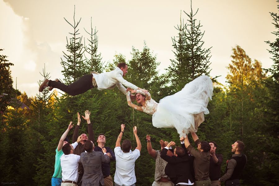
[[[114,154],[116,159],[114,182],[125,186],[136,183],[135,161],[139,158],[140,151],[135,149],[124,153],[120,147],[115,147]]]

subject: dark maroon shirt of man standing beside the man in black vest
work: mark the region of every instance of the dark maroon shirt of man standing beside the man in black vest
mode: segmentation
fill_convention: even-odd
[[[221,164],[223,162],[223,156],[222,154],[216,154],[215,153],[215,156],[217,157],[218,159],[218,162],[215,163],[213,161],[213,158],[212,156],[210,157],[210,164],[209,164],[209,178],[211,181],[214,181],[214,180],[219,180],[220,178],[220,171],[221,171]]]

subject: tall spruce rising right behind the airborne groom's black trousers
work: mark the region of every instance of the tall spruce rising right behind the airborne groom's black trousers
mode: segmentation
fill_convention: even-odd
[[[64,18],[65,19],[65,18]],[[86,68],[85,64],[84,64],[84,60],[82,59],[83,53],[84,53],[84,48],[83,48],[83,44],[82,44],[82,36],[79,37],[78,35],[80,33],[78,33],[79,29],[78,29],[78,24],[81,21],[80,20],[76,23],[75,20],[75,9],[74,9],[74,15],[73,15],[73,24],[71,24],[68,20],[65,19],[65,21],[71,25],[71,27],[73,28],[73,33],[69,34],[71,35],[71,38],[68,40],[67,39],[67,51],[69,52],[69,54],[66,54],[66,52],[63,51],[64,53],[64,58],[66,59],[66,61],[62,60],[61,58],[61,64],[64,68],[64,70],[62,70],[62,73],[65,77],[65,82],[66,83],[71,83],[74,82],[76,80],[78,80],[78,78],[80,78],[82,75],[84,75],[86,73]]]

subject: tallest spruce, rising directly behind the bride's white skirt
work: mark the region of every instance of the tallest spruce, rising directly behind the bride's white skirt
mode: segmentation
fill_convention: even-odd
[[[197,9],[198,11],[198,9]],[[193,13],[192,1],[190,13],[184,13],[188,16],[188,24],[181,21],[176,27],[179,31],[177,40],[172,38],[175,48],[174,54],[176,59],[171,60],[172,64],[168,67],[169,76],[171,78],[174,91],[180,91],[185,84],[195,78],[205,74],[209,76],[211,64],[210,48],[204,49],[204,42],[201,40],[204,32],[201,32],[202,25],[197,23],[195,19],[196,13]],[[216,77],[215,77],[216,78]]]

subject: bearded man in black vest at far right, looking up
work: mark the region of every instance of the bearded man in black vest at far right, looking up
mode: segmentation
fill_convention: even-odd
[[[232,144],[232,153],[234,153],[230,160],[228,160],[226,173],[219,179],[219,185],[221,181],[225,181],[226,186],[240,186],[240,175],[244,169],[247,157],[242,154],[245,145],[242,141],[236,141]]]

